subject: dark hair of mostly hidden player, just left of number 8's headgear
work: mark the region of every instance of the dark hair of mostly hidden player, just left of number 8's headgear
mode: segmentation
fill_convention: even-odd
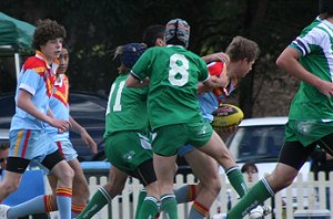
[[[158,39],[164,39],[165,27],[161,24],[150,25],[143,31],[142,42],[148,48],[155,46]]]

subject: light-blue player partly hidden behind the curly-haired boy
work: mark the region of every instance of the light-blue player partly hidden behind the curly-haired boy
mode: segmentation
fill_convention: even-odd
[[[57,70],[57,79],[54,83],[56,91],[53,92],[49,106],[52,112],[53,117],[61,118],[65,121],[70,121],[71,131],[81,135],[82,140],[87,144],[87,146],[91,147],[92,153],[97,153],[97,144],[91,138],[91,136],[87,133],[87,131],[80,126],[69,113],[69,81],[65,75],[67,69],[69,64],[69,53],[67,48],[62,48],[60,56],[59,56],[59,67]],[[85,176],[81,169],[80,163],[78,160],[77,150],[73,148],[70,139],[69,132],[59,133],[56,127],[52,127],[47,124],[47,133],[52,137],[53,142],[57,144],[61,155],[69,163],[71,168],[74,170],[73,178],[73,196],[72,196],[72,207],[71,207],[71,217],[75,218],[82,209],[85,207],[85,204],[89,198],[89,186],[85,179]],[[44,167],[41,167],[44,169]],[[47,173],[49,173],[47,170]],[[10,211],[14,211],[16,217],[23,217],[31,213],[41,213],[41,212],[51,212],[58,210],[57,199],[56,199],[56,189],[57,189],[57,177],[52,174],[48,174],[49,182],[52,189],[52,195],[42,195],[36,197],[34,199],[21,204],[19,206],[20,211],[17,210],[16,207],[11,207]],[[42,201],[43,200],[43,201]],[[24,206],[33,205],[33,212],[31,212],[30,208],[24,208]]]

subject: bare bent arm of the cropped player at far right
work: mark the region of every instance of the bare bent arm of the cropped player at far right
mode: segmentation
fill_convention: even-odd
[[[316,87],[327,97],[333,96],[333,83],[324,81],[305,70],[299,62],[300,56],[301,53],[296,49],[287,46],[278,58],[276,65],[287,71],[292,76]]]

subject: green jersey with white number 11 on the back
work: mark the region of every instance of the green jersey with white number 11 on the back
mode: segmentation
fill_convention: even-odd
[[[119,75],[113,82],[107,108],[104,138],[120,131],[148,134],[147,88],[129,88],[129,73]]]

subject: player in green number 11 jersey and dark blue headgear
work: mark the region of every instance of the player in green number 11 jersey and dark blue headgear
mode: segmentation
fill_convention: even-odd
[[[78,218],[91,218],[113,197],[121,194],[129,176],[138,178],[147,190],[138,218],[154,218],[158,213],[159,188],[153,170],[149,140],[147,88],[128,88],[125,80],[140,55],[145,51],[142,43],[119,46],[119,76],[113,82],[107,108],[105,155],[112,164],[109,182],[101,187]]]

